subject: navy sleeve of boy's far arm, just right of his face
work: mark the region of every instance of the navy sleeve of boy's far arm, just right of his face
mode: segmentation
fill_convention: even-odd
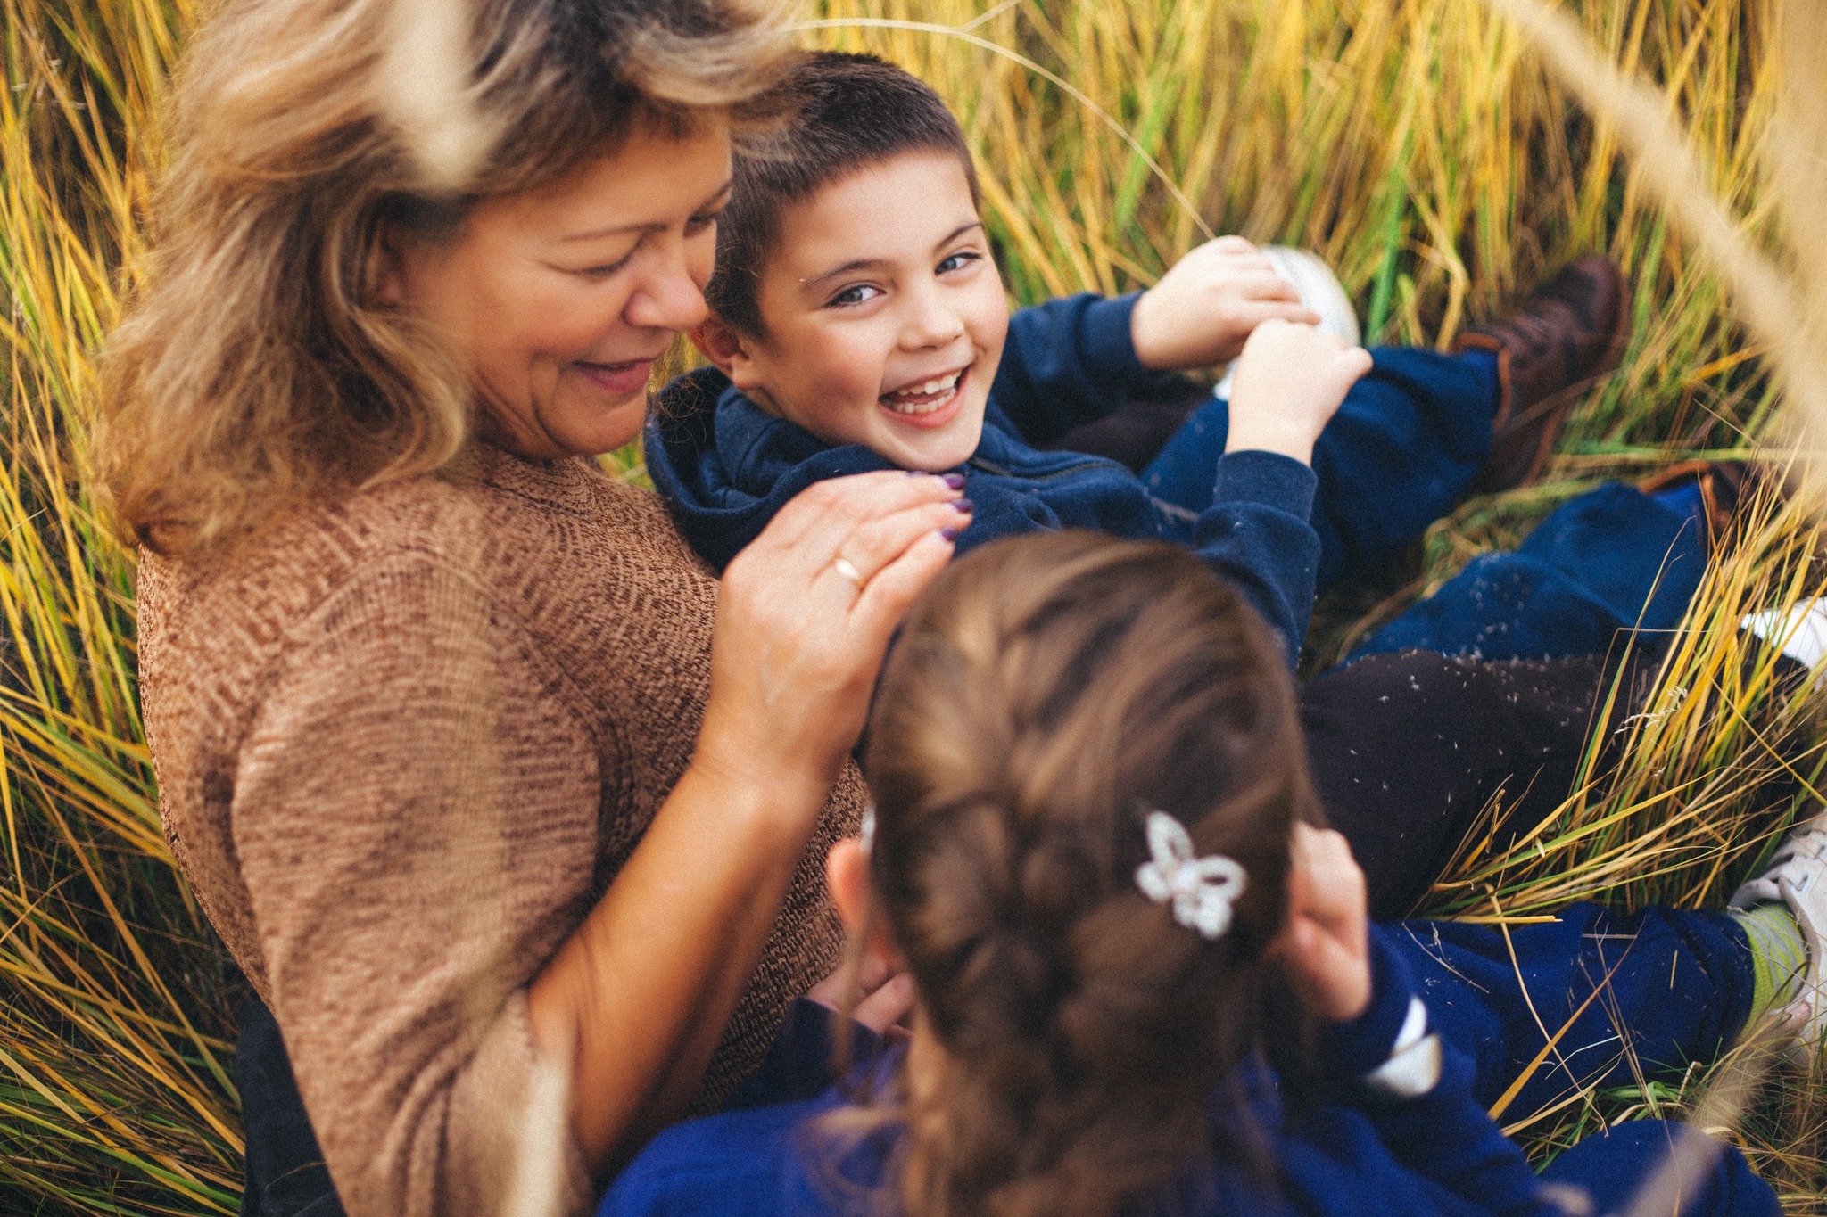
[[[1080,292],[1009,317],[990,400],[1023,440],[1045,447],[1162,381],[1142,367],[1129,338],[1136,296]]]

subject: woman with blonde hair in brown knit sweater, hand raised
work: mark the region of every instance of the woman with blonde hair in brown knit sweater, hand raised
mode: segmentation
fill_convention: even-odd
[[[468,16],[444,93],[420,9]],[[230,0],[188,51],[99,460],[172,850],[358,1217],[588,1206],[835,963],[848,754],[968,505],[824,484],[718,588],[592,460],[705,316],[784,38],[764,0]],[[300,1212],[270,1080],[245,1212]]]

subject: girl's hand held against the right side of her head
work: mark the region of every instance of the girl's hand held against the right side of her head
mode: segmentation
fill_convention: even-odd
[[[1365,872],[1330,828],[1297,823],[1288,869],[1288,927],[1275,952],[1308,1007],[1348,1022],[1370,1005],[1370,920]]]

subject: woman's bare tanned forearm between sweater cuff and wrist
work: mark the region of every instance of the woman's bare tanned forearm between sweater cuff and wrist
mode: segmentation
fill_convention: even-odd
[[[570,1060],[570,1126],[592,1170],[676,1118],[696,1091],[826,792],[694,765],[533,978],[539,1051]]]

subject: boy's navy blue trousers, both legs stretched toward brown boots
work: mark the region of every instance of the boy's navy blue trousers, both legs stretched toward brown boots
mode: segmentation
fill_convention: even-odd
[[[1485,356],[1383,347],[1314,445],[1319,588],[1370,567],[1452,511],[1491,447]],[[1206,401],[1142,471],[1155,498],[1211,505],[1230,403]],[[1672,629],[1706,567],[1690,516],[1604,485],[1544,520],[1515,553],[1474,558],[1352,659],[1405,650],[1474,659],[1602,655],[1619,629]]]

